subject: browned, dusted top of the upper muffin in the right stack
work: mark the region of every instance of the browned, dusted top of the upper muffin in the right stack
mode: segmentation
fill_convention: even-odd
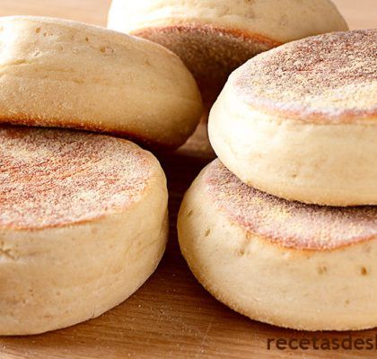
[[[315,36],[255,57],[232,76],[245,103],[319,123],[377,119],[377,30]]]

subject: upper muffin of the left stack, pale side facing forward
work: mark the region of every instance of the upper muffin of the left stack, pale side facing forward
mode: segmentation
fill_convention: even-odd
[[[168,149],[197,127],[197,83],[168,49],[66,20],[3,17],[0,28],[0,123],[83,128]]]

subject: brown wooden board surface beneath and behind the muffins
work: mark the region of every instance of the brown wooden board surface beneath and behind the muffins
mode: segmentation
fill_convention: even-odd
[[[377,0],[335,2],[351,28],[377,27]],[[109,6],[110,0],[0,0],[0,15],[48,15],[105,25]],[[175,224],[184,191],[211,156],[205,138],[202,126],[180,153],[160,156],[171,192],[171,235],[161,265],[146,284],[98,319],[35,337],[0,337],[0,359],[377,357],[377,351],[268,351],[267,338],[343,339],[349,333],[296,332],[248,320],[197,283],[180,256]],[[377,330],[353,333],[354,338],[376,335]]]

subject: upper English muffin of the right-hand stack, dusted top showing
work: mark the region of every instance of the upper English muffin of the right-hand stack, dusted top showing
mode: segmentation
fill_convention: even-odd
[[[302,39],[229,78],[209,138],[243,182],[329,206],[377,205],[377,31]]]

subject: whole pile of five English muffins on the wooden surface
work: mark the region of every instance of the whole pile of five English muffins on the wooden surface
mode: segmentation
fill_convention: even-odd
[[[168,192],[142,147],[176,150],[209,111],[219,159],[178,223],[197,279],[252,319],[376,326],[377,32],[329,0],[114,0],[109,28],[0,18],[0,335],[143,285]]]

